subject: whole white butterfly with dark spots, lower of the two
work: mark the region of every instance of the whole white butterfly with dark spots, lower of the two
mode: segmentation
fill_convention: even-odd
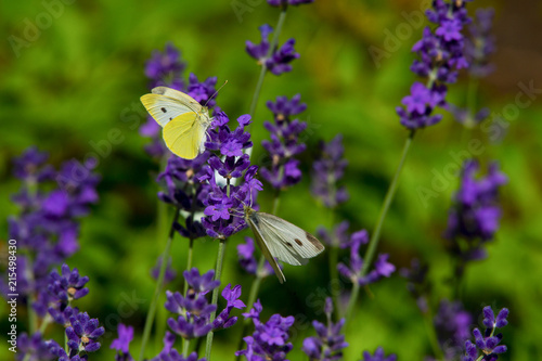
[[[307,265],[308,258],[324,250],[324,246],[315,236],[282,218],[256,211],[248,206],[244,206],[244,218],[281,283],[286,279],[275,257],[283,262],[300,266]]]

